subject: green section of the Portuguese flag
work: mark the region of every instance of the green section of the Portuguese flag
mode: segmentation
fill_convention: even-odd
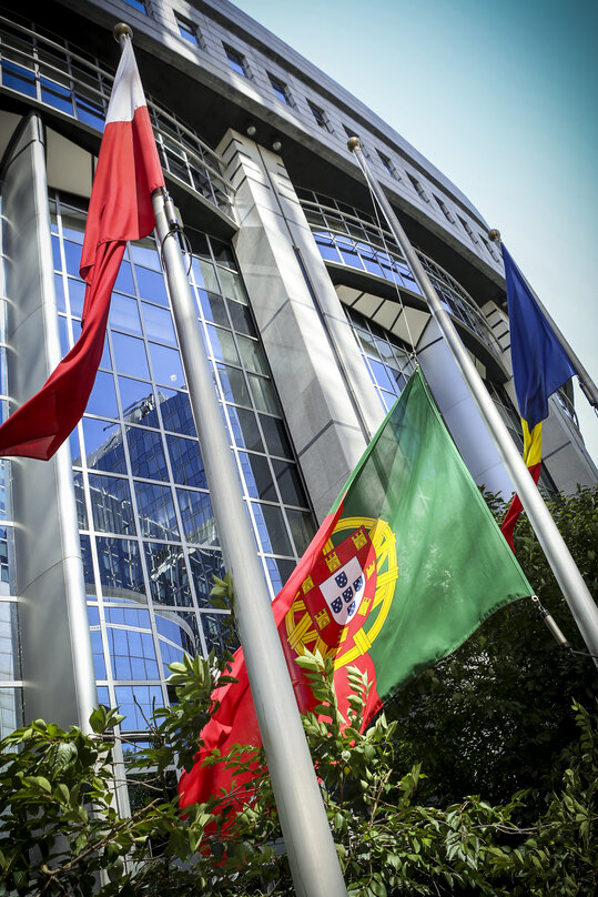
[[[378,568],[378,579],[397,574],[392,602],[374,607],[364,626],[374,636],[368,653],[381,698],[498,607],[534,594],[419,370],[347,483],[342,518],[352,515],[386,521],[396,538],[396,555]]]

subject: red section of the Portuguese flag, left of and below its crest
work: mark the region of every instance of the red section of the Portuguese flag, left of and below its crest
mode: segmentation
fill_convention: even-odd
[[[323,547],[331,537],[341,517],[342,511],[343,504],[341,503],[337,511],[328,514],[324,520],[312,540],[310,547],[272,605],[291,681],[293,683],[295,698],[302,713],[310,712],[314,707],[315,702],[307,678],[301,667],[295,663],[296,655],[288,645],[286,615],[303,582],[321,562]],[[339,632],[341,629],[342,627],[338,627]],[[375,687],[375,668],[367,654],[362,655],[353,666],[357,666],[362,672],[366,672],[368,682],[373,683],[364,715],[364,725],[366,725],[382,706]],[[203,760],[214,749],[217,748],[222,756],[226,757],[233,745],[251,745],[252,747],[260,747],[262,745],[242,648],[235,652],[230,675],[234,676],[239,682],[225,685],[214,693],[214,697],[220,702],[220,706],[201,733],[203,744],[195,755],[195,765],[189,773],[183,773],[179,782],[180,806],[182,808],[191,804],[204,803],[217,795],[222,789],[224,789],[224,792],[231,789],[233,770],[227,769],[224,763],[217,763],[209,767],[202,765]],[[334,683],[341,713],[346,717],[348,696],[352,693],[352,688],[348,684],[345,666],[341,667],[335,673]],[[252,775],[251,773],[245,773],[243,776],[234,775],[234,798],[225,799],[223,806],[232,807],[234,810],[237,810],[241,808],[243,802],[246,802],[251,796]]]

